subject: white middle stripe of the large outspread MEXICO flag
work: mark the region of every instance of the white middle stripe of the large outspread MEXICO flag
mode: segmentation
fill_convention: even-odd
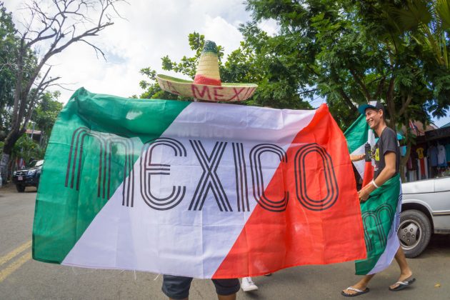
[[[196,278],[211,278],[225,259],[256,205],[251,188],[249,151],[256,144],[277,144],[285,151],[296,134],[309,124],[315,111],[264,109],[229,104],[193,103],[179,114],[161,137],[181,142],[187,156],[174,156],[164,146],[154,149],[152,164],[170,164],[169,176],[151,180],[155,196],[171,194],[172,186],[186,186],[184,200],[173,209],[156,211],[141,198],[140,160],[134,164],[134,207],[121,204],[122,185],[66,256],[62,264],[104,269],[131,269]],[[232,212],[219,211],[212,191],[201,211],[189,210],[202,174],[189,140],[200,140],[207,154],[216,141],[228,144],[217,169]],[[249,179],[250,211],[236,210],[235,171],[232,142],[244,144]],[[279,161],[262,154],[264,188]],[[138,267],[139,266],[139,267]]]

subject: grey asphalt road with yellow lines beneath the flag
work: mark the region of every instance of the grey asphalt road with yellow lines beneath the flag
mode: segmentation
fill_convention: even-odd
[[[158,274],[81,269],[31,259],[36,189],[0,189],[0,299],[166,299]],[[449,199],[450,200],[450,199]],[[416,283],[404,291],[387,288],[398,276],[392,264],[375,276],[371,291],[357,299],[450,299],[450,236],[433,236],[428,249],[409,259]],[[345,299],[341,289],[354,284],[354,264],[298,266],[257,277],[259,290],[239,291],[238,299]],[[209,280],[194,280],[190,299],[216,299]]]

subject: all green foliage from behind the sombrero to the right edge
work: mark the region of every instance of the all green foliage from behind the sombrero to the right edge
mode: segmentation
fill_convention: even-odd
[[[385,102],[392,127],[410,119],[427,124],[431,116],[447,113],[449,70],[417,32],[424,36],[424,25],[433,28],[428,37],[444,30],[440,49],[446,50],[448,1],[248,0],[246,4],[253,21],[241,25],[244,41],[219,66],[223,82],[259,85],[246,104],[305,109],[312,99],[323,98],[342,129],[359,115],[357,106],[371,99]],[[257,25],[269,19],[278,25],[274,36]],[[164,56],[163,69],[194,77],[203,43],[204,36],[190,34],[194,56],[179,62]],[[143,70],[154,79],[150,69]],[[161,92],[154,80],[141,87],[148,98],[176,99]]]

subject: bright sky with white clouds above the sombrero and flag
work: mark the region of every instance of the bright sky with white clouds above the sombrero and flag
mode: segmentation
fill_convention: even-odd
[[[21,18],[21,0],[4,0],[5,6]],[[206,39],[224,46],[225,55],[238,48],[242,36],[239,24],[250,20],[244,0],[129,0],[118,7],[124,19],[114,19],[114,25],[90,39],[106,54],[107,61],[97,58],[90,46],[72,44],[54,56],[52,76],[61,76],[59,82],[70,84],[70,89],[81,86],[94,93],[132,96],[141,94],[139,81],[144,76],[139,70],[151,67],[163,74],[161,57],[169,55],[179,61],[191,56],[188,35],[194,31]],[[264,21],[260,26],[269,34],[276,31],[276,24]],[[174,74],[171,74],[174,75]],[[180,75],[176,75],[180,76]],[[61,91],[60,101],[66,102],[73,91]],[[323,100],[312,103],[319,106]],[[440,126],[450,118],[435,120]]]

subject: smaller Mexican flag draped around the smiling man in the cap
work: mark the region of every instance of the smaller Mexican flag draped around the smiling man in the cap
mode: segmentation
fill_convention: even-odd
[[[351,154],[364,154],[364,145],[375,144],[374,131],[366,123],[365,116],[359,116],[345,131],[345,137]],[[364,179],[366,186],[374,178],[371,161],[356,161],[354,166]],[[386,269],[399,249],[399,228],[401,212],[401,181],[397,174],[373,191],[369,199],[361,203],[364,224],[367,258],[356,261],[356,274],[375,274]]]

